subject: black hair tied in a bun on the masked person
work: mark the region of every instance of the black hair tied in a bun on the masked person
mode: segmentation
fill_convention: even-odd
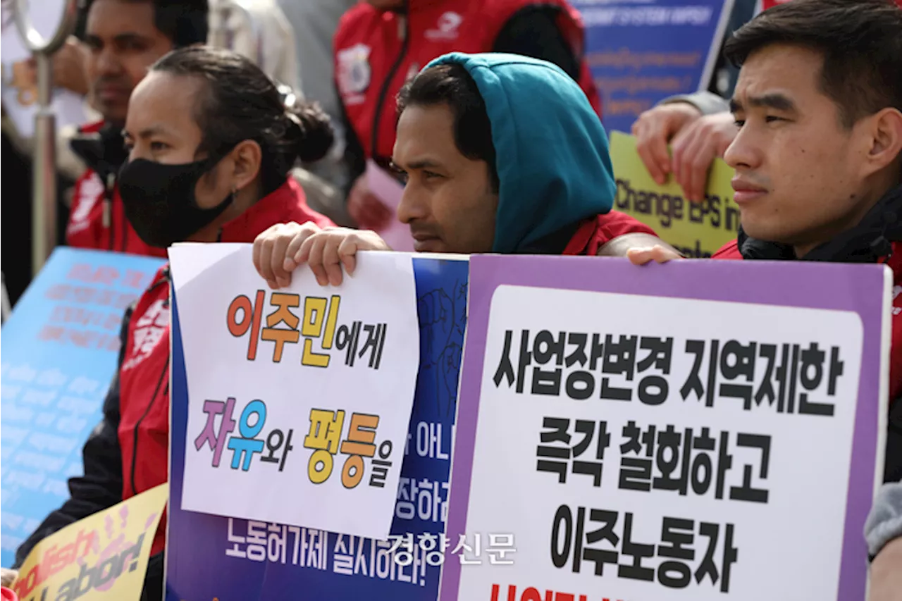
[[[235,144],[253,140],[262,149],[265,193],[285,182],[300,159],[322,159],[334,142],[329,117],[318,104],[293,100],[263,71],[233,51],[192,46],[171,51],[152,71],[203,79],[195,120],[203,132],[198,153],[224,154]]]

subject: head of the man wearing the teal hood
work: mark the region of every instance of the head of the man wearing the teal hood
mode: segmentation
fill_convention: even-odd
[[[601,121],[551,63],[446,54],[401,90],[399,110],[392,158],[408,183],[398,217],[418,250],[556,254],[612,207]]]

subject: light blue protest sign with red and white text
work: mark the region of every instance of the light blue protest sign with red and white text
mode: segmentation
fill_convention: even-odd
[[[125,308],[159,259],[60,247],[0,328],[0,566],[69,498],[102,417]]]

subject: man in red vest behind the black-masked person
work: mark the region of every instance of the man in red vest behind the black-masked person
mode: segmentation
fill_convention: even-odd
[[[174,48],[207,41],[207,0],[88,0],[85,42],[90,97],[103,116],[72,140],[88,166],[69,212],[70,246],[166,256],[125,218],[115,179],[125,160],[128,99],[153,62]]]

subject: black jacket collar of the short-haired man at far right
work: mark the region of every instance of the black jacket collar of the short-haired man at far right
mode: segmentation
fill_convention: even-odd
[[[736,239],[743,259],[795,260],[791,245],[747,236],[740,227]],[[902,242],[902,186],[889,190],[861,219],[861,223],[805,254],[803,261],[877,263]]]

